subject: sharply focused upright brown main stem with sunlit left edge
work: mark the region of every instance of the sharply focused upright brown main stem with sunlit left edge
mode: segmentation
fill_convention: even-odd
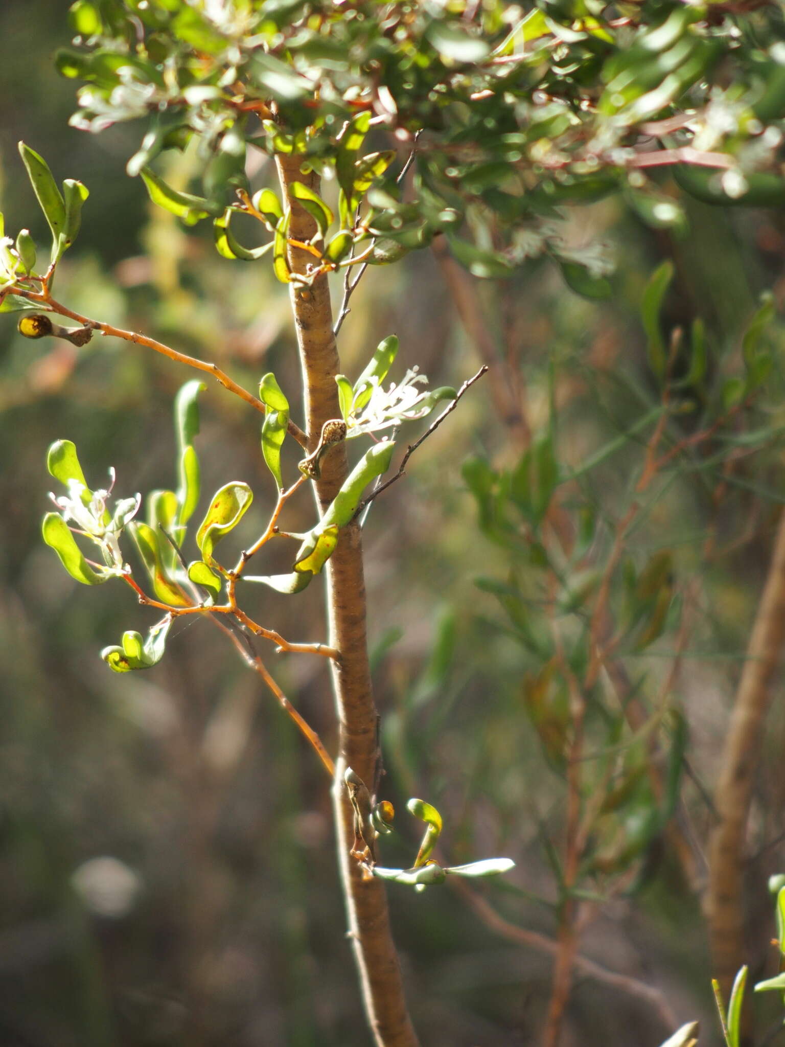
[[[300,173],[300,162],[296,156],[276,157],[282,188],[291,209],[289,237],[308,241],[314,236],[316,225],[291,196],[290,186],[292,182],[299,181],[318,191],[319,183],[315,174]],[[314,262],[312,254],[290,245],[289,265],[293,272],[304,272],[309,262]],[[302,366],[310,453],[318,443],[323,423],[340,418],[338,387],[335,384],[340,366],[333,336],[327,277],[318,277],[310,288],[292,287],[291,300]],[[322,458],[321,477],[315,485],[322,512],[347,474],[345,445],[339,443]],[[354,829],[343,772],[351,766],[373,788],[379,755],[378,716],[371,686],[365,630],[362,538],[356,522],[341,530],[328,569],[329,642],[341,655],[339,665],[332,663],[339,728],[333,798],[349,935],[368,1024],[378,1047],[418,1047],[417,1034],[406,1010],[384,887],[379,879],[364,881],[357,862],[349,853],[354,843]]]

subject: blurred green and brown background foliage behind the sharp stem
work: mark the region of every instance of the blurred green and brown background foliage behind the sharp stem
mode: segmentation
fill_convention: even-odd
[[[5,0],[0,29],[6,222],[41,231],[19,138],[91,191],[61,263],[61,300],[216,361],[247,388],[274,371],[296,419],[287,289],[266,265],[218,257],[208,229],[152,208],[125,174],[133,124],[99,136],[68,127],[72,86],[51,62],[69,37],[64,4]],[[193,162],[170,160],[167,175],[184,181]],[[264,184],[269,162],[254,162]],[[510,925],[553,936],[565,898],[578,899],[586,955],[659,987],[680,1021],[710,1013],[700,890],[711,790],[785,500],[782,215],[683,207],[683,227],[670,229],[621,195],[570,216],[576,247],[602,243],[615,260],[603,303],[540,261],[477,281],[436,238],[367,272],[340,346],[352,376],[390,332],[398,365],[419,364],[433,384],[491,365],[365,529],[382,790],[408,841],[385,864],[410,861],[418,830],[404,801],[427,798],[445,818],[450,863],[516,861],[484,891]],[[769,370],[754,387],[742,343],[764,291],[772,307],[755,352]],[[664,394],[657,361],[669,355]],[[0,1043],[366,1043],[313,754],[204,623],[177,621],[149,673],[110,673],[99,649],[143,631],[153,612],[119,584],[74,585],[40,538],[45,451],[58,438],[76,442],[96,486],[110,466],[122,494],[173,484],[172,400],[192,376],[108,339],[30,342],[14,317],[0,324]],[[642,490],[652,447],[657,468]],[[199,452],[203,491],[237,478],[256,492],[229,539],[240,550],[273,491],[257,418],[218,386],[203,395]],[[287,512],[292,530],[309,526],[306,502]],[[320,596],[319,585],[296,600],[262,594],[252,610],[316,640]],[[612,659],[586,689],[581,789],[599,799],[565,894],[570,680],[590,668],[589,627]],[[270,661],[330,748],[319,660]],[[750,867],[759,970],[772,962],[765,881],[785,861],[779,703],[768,728]],[[459,892],[389,893],[423,1042],[531,1042],[550,956],[497,935]],[[626,1044],[633,1027],[641,1047],[672,1031],[650,1002],[579,968],[563,1043]],[[719,1042],[711,1018],[705,1027],[701,1043]]]

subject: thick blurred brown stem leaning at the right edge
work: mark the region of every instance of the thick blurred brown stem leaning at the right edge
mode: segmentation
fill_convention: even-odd
[[[743,887],[747,818],[771,677],[784,643],[785,513],[780,517],[768,577],[749,637],[719,759],[721,770],[714,798],[719,822],[709,851],[706,910],[713,973],[725,998],[736,972],[745,962]]]

